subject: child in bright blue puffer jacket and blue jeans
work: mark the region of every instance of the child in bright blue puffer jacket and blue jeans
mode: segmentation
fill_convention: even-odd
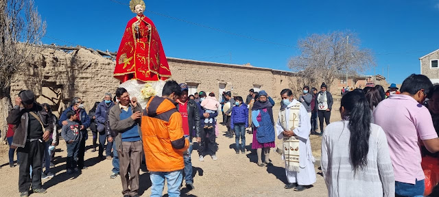
[[[235,130],[235,147],[236,154],[241,150],[242,154],[246,153],[246,128],[248,127],[248,108],[243,102],[241,96],[235,97],[235,107],[232,109],[230,117],[230,129]],[[239,147],[239,137],[241,137],[241,147]]]

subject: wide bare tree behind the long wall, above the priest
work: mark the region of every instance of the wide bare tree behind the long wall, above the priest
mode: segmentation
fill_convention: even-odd
[[[359,44],[357,35],[350,31],[312,34],[298,41],[302,53],[291,58],[289,68],[303,77],[301,85],[320,87],[324,81],[330,86],[346,72],[355,76],[375,66],[372,52]]]

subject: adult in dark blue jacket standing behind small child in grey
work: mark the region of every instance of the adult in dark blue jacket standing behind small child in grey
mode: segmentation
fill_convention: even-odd
[[[80,124],[80,135],[83,137],[80,141],[80,150],[78,153],[78,170],[86,169],[84,166],[84,153],[85,153],[85,140],[88,137],[87,128],[90,127],[90,117],[88,117],[87,112],[84,109],[84,102],[78,97],[75,97],[71,101],[70,107],[64,110],[60,116],[58,124],[60,127],[67,124],[67,112],[74,111],[76,116],[78,116],[77,122]]]

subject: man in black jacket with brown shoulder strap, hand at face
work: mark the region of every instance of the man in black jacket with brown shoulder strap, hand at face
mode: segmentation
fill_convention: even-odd
[[[18,147],[17,157],[20,158],[20,196],[29,196],[31,185],[34,193],[46,193],[41,183],[41,161],[44,155],[43,142],[49,140],[53,121],[44,107],[35,103],[34,92],[23,90],[15,99],[14,109],[10,111],[6,122],[16,125],[12,146]],[[30,177],[31,165],[32,179]]]

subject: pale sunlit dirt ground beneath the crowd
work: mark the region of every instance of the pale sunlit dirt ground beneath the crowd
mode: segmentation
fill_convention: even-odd
[[[340,101],[336,101],[331,114],[331,122],[340,120]],[[274,107],[274,116],[277,118],[278,106]],[[220,117],[219,117],[219,120]],[[220,122],[220,121],[219,121]],[[257,166],[256,152],[250,151],[249,144],[252,135],[246,135],[246,154],[235,154],[233,147],[235,139],[224,136],[226,127],[219,126],[217,136],[218,152],[217,161],[211,157],[204,157],[205,161],[198,161],[196,150],[192,153],[193,175],[195,189],[189,191],[182,186],[182,196],[327,196],[327,187],[323,177],[317,174],[317,182],[310,189],[304,192],[294,192],[292,189],[284,189],[287,182],[285,176],[284,162],[281,155],[275,153],[273,148],[270,159],[274,166]],[[87,148],[91,148],[92,140],[86,141]],[[277,141],[276,144],[280,144]],[[320,160],[321,137],[311,135],[311,146],[313,155]],[[195,145],[196,146],[196,145]],[[54,178],[43,180],[43,187],[47,194],[31,194],[30,196],[122,196],[120,176],[110,179],[112,163],[110,160],[100,161],[97,159],[97,152],[91,153],[90,149],[85,153],[85,165],[88,169],[82,174],[66,174],[66,146],[61,141],[56,147],[55,167],[51,171],[56,174]],[[196,147],[195,147],[196,148]],[[316,166],[320,165],[316,163]],[[0,196],[19,196],[18,174],[19,168],[10,168],[8,165],[8,153],[0,155],[0,174],[3,181],[0,184]],[[316,167],[316,173],[320,172]],[[140,196],[150,196],[151,181],[148,172],[140,172]],[[167,196],[166,187],[163,192]]]

